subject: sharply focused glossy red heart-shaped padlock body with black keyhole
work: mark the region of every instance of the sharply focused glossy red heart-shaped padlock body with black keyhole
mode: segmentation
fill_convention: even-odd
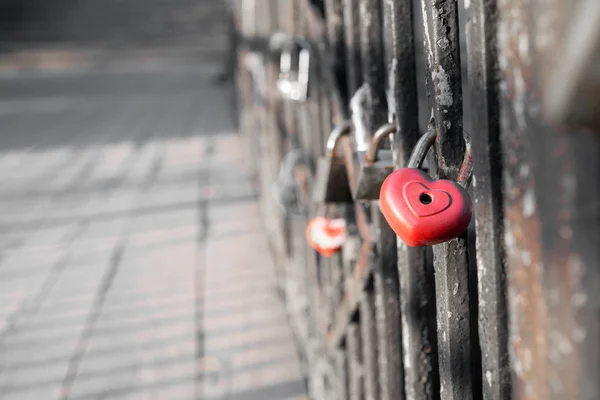
[[[433,180],[416,168],[390,174],[379,193],[381,212],[409,246],[458,237],[471,222],[471,198],[456,182]]]

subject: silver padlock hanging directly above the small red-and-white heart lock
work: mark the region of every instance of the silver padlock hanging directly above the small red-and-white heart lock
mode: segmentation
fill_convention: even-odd
[[[335,127],[327,139],[325,156],[317,162],[317,175],[313,187],[315,203],[351,203],[352,191],[348,181],[346,164],[337,154],[340,139],[352,131],[352,123],[346,121]]]

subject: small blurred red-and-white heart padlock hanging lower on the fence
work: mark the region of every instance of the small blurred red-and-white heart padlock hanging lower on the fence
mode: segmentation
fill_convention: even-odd
[[[346,221],[341,218],[313,218],[306,227],[306,240],[321,255],[329,257],[346,241]]]

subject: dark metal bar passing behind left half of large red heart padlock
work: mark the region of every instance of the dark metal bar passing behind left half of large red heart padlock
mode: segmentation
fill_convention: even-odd
[[[398,125],[394,150],[402,168],[419,135],[412,0],[385,1],[384,33],[388,108]],[[425,249],[398,241],[398,271],[406,398],[438,399],[435,282]]]

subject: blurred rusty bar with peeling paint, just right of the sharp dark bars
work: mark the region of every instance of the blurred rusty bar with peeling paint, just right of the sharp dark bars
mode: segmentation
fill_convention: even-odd
[[[547,399],[546,312],[542,293],[541,226],[532,173],[532,143],[526,105],[531,100],[524,76],[528,55],[515,51],[528,40],[522,1],[498,1],[498,53],[501,88],[504,245],[508,278],[509,354],[515,399]],[[525,59],[523,56],[526,56]]]

